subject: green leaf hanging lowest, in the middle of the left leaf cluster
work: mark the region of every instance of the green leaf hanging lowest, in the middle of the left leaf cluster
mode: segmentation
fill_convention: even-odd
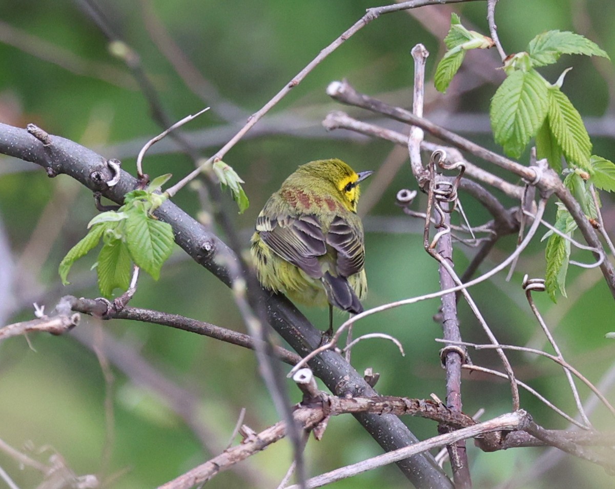
[[[98,254],[98,289],[105,297],[111,297],[113,290],[126,290],[130,286],[132,262],[128,248],[122,240],[111,238]]]

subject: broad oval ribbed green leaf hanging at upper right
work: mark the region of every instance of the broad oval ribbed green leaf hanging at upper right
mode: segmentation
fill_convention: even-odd
[[[518,158],[547,115],[547,86],[536,71],[514,71],[493,95],[490,118],[496,142]]]

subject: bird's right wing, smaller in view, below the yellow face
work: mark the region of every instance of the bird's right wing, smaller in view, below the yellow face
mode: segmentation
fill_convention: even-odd
[[[335,216],[327,233],[327,244],[338,252],[336,271],[350,277],[363,269],[365,250],[362,230],[353,227],[346,219]]]

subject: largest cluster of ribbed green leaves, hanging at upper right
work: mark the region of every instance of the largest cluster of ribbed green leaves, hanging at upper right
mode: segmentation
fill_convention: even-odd
[[[592,143],[581,115],[561,91],[565,70],[555,84],[542,77],[537,67],[555,63],[562,54],[585,54],[608,58],[605,51],[584,36],[548,31],[536,36],[528,51],[504,63],[507,78],[491,100],[491,127],[504,152],[519,158],[536,138],[538,158],[547,158],[561,171],[561,157],[569,166],[591,173]]]

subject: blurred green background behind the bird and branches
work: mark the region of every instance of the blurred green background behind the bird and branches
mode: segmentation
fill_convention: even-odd
[[[374,4],[364,0],[98,2],[108,25],[138,53],[171,121],[211,105],[212,110],[185,127],[204,156],[218,150],[250,113],[371,6]],[[422,222],[403,216],[395,206],[400,188],[416,188],[405,152],[391,143],[345,131],[327,133],[321,121],[331,110],[347,110],[359,118],[383,122],[328,99],[327,84],[342,78],[359,91],[410,107],[410,49],[422,42],[431,52],[427,65],[431,76],[443,54],[441,39],[453,9],[465,25],[488,34],[485,2],[384,15],[315,68],[228,153],[225,161],[245,180],[252,203],[245,214],[236,216],[244,243],[266,198],[298,164],[338,157],[357,171],[383,168],[363,187],[360,204],[367,211],[370,295],[365,305],[373,307],[438,289],[437,265],[422,247]],[[509,54],[523,50],[534,35],[559,29],[585,34],[615,57],[613,18],[612,0],[507,0],[496,10],[499,37]],[[165,56],[161,47],[183,53],[202,77],[195,78],[196,91],[205,92],[206,97],[199,97],[178,76],[170,62],[177,62],[178,55]],[[108,158],[120,158],[123,168],[133,174],[138,150],[161,132],[143,92],[124,63],[109,53],[105,35],[81,2],[0,0],[0,60],[3,123],[20,127],[36,123]],[[467,67],[446,95],[436,94],[428,83],[426,116],[497,149],[485,115],[496,83],[504,76],[496,69],[498,65],[495,50],[471,53]],[[542,73],[555,81],[566,67],[574,70],[563,89],[588,118],[594,152],[615,160],[613,129],[609,133],[606,124],[613,120],[612,63],[565,56]],[[145,167],[151,176],[172,172],[172,182],[193,168],[187,156],[173,150],[170,140],[151,150]],[[202,216],[196,190],[196,186],[187,188],[174,201],[193,216]],[[515,204],[495,194],[507,206]],[[472,225],[488,220],[469,196],[461,198]],[[228,195],[224,199],[223,205],[234,215],[234,203]],[[424,204],[421,195],[414,208],[421,211]],[[603,196],[603,204],[606,227],[613,231],[610,196]],[[72,285],[62,287],[57,275],[60,260],[84,235],[95,213],[90,193],[68,177],[49,179],[34,164],[0,158],[0,324],[32,318],[33,302],[49,310],[64,294],[97,296],[95,275],[89,270],[93,257],[77,262],[69,277]],[[550,203],[549,218],[554,214],[555,205]],[[502,261],[515,241],[516,236],[502,240],[482,271]],[[543,252],[543,245],[534,240],[511,281],[506,282],[501,274],[472,288],[472,296],[502,343],[544,344],[520,287],[525,273],[544,275]],[[471,248],[456,248],[454,259],[460,273],[474,253]],[[587,253],[575,257],[591,260]],[[555,334],[569,362],[593,382],[600,382],[605,372],[613,370],[614,346],[604,339],[605,333],[615,329],[610,320],[613,297],[598,270],[574,267],[569,272],[568,295],[555,305],[546,294],[536,294],[536,302],[547,323],[557,328]],[[179,249],[165,264],[160,281],[141,278],[132,305],[245,331],[228,289]],[[381,394],[428,398],[434,393],[445,398],[438,357],[441,344],[434,341],[442,333],[432,320],[438,305],[438,301],[425,301],[401,307],[355,327],[355,335],[392,334],[405,349],[402,357],[391,342],[370,340],[355,347],[353,365],[360,372],[372,367],[381,373],[377,386]],[[325,329],[325,310],[304,312]],[[460,318],[464,339],[486,341],[466,305],[460,306]],[[343,316],[336,320],[341,322]],[[101,368],[97,351],[103,352],[102,364],[108,362],[108,370]],[[471,354],[474,363],[499,368],[493,352]],[[544,358],[510,358],[520,379],[574,413],[560,368]],[[466,413],[485,408],[482,419],[488,419],[511,408],[506,382],[474,375],[464,381],[463,388]],[[292,402],[298,402],[296,387],[289,384],[289,391]],[[614,393],[612,386],[605,392],[611,402]],[[586,398],[589,391],[581,387],[581,394]],[[522,392],[522,406],[543,426],[566,426],[526,392]],[[16,337],[0,345],[0,438],[40,461],[58,453],[77,475],[98,474],[108,487],[156,487],[220,453],[242,407],[247,409],[245,422],[256,431],[277,421],[252,352],[191,333],[84,317],[69,335]],[[419,438],[437,434],[433,422],[404,421]],[[604,408],[595,411],[592,421],[597,427],[613,428]],[[571,457],[564,457],[545,473],[532,475],[544,450],[485,454],[469,445],[475,487],[505,487],[500,484],[514,481],[519,485],[506,487],[613,487],[613,478],[601,469]],[[339,417],[330,422],[321,442],[309,442],[308,473],[316,475],[378,453],[379,447],[353,418]],[[277,443],[218,475],[209,486],[276,487],[289,463],[288,443]],[[20,467],[2,453],[0,467],[18,487],[36,487],[41,481],[34,469]],[[4,485],[0,480],[0,487]],[[407,480],[392,466],[333,487],[407,487]]]

